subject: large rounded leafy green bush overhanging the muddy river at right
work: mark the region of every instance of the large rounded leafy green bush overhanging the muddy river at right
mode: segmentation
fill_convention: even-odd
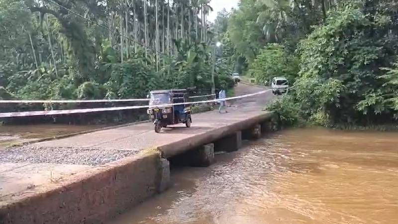
[[[318,82],[322,94],[314,98],[317,87],[306,85],[311,92],[303,93],[298,86],[298,99],[312,96],[317,101],[312,110],[324,110],[331,124],[392,121],[397,114],[390,98],[398,89],[384,85],[380,70],[397,55],[397,40],[389,31],[396,18],[384,7],[375,9],[354,4],[331,12],[299,46],[298,82]]]

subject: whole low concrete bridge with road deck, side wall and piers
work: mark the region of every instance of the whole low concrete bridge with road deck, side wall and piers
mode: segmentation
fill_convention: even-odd
[[[261,91],[240,84],[237,95]],[[149,122],[0,150],[0,224],[101,223],[169,183],[169,160],[208,166],[214,151],[269,130],[271,93],[193,115],[191,128]]]

